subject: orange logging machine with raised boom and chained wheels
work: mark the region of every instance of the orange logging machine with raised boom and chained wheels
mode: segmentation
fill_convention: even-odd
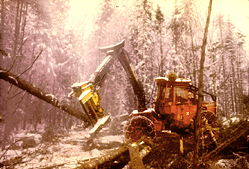
[[[104,48],[101,52],[107,54],[101,65],[87,82],[75,83],[70,96],[75,95],[80,101],[89,118],[91,135],[96,134],[110,121],[110,114],[100,106],[99,88],[102,86],[110,67],[118,60],[126,71],[138,100],[138,108],[134,110],[124,127],[124,135],[132,142],[141,138],[153,141],[160,133],[172,131],[179,134],[194,131],[194,121],[197,113],[198,88],[191,80],[177,78],[173,72],[167,77],[157,77],[157,96],[154,108],[146,107],[145,92],[131,66],[128,52],[124,49],[125,41]],[[216,116],[215,95],[203,91],[212,101],[203,100],[200,120],[200,143],[202,147],[217,144],[219,123]],[[210,99],[210,100],[211,100]]]

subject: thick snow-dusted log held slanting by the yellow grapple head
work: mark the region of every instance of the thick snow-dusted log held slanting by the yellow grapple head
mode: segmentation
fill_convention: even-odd
[[[60,108],[61,110],[64,110],[68,114],[83,120],[84,122],[88,122],[88,118],[86,114],[82,111],[79,111],[78,109],[70,106],[69,104],[59,101],[54,95],[49,94],[42,89],[34,86],[33,84],[21,79],[20,77],[5,71],[0,67],[0,79],[3,79],[16,87],[27,91],[28,93],[38,97],[41,100],[44,100],[45,102],[52,104],[53,106]]]

